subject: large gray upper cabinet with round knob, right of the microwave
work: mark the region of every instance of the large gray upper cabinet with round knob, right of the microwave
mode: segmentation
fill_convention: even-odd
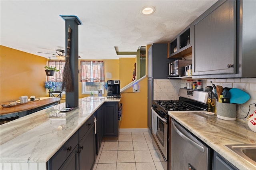
[[[194,78],[256,77],[255,6],[218,1],[190,24]]]

